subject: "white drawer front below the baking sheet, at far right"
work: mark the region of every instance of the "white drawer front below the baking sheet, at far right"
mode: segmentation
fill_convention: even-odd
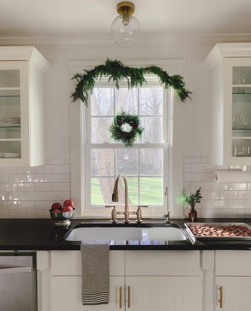
[[[251,251],[215,251],[215,275],[251,276]]]

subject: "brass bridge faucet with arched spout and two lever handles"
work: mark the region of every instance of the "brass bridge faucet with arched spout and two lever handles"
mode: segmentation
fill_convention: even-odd
[[[141,207],[148,207],[147,205],[138,205],[136,212],[129,212],[128,211],[128,184],[127,184],[127,178],[125,174],[118,174],[113,188],[112,193],[112,202],[118,202],[118,183],[121,177],[124,179],[125,182],[125,211],[124,212],[117,212],[115,205],[106,205],[105,207],[112,207],[112,219],[111,222],[117,222],[117,215],[123,215],[124,214],[124,220],[123,222],[130,222],[129,215],[137,215],[136,222],[142,222],[142,210]]]

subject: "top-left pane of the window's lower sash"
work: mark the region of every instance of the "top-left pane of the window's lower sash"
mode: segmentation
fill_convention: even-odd
[[[91,150],[91,175],[114,176],[114,151],[113,149]]]

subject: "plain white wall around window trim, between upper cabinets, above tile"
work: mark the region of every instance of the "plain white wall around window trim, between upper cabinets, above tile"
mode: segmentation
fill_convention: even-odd
[[[46,156],[70,157],[68,67],[69,60],[168,59],[187,62],[184,77],[192,101],[186,100],[183,118],[183,156],[206,157],[209,154],[209,73],[202,61],[212,46],[176,48],[62,48],[39,49],[52,64],[46,75]],[[83,68],[84,69],[84,68]]]

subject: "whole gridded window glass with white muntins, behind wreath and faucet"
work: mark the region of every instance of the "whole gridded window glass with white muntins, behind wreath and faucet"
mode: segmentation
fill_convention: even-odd
[[[142,88],[95,87],[90,97],[86,185],[90,191],[87,206],[111,204],[114,180],[119,173],[128,178],[129,205],[163,207],[163,179],[167,165],[167,143],[163,142],[164,91],[160,86]],[[145,128],[133,148],[125,148],[110,138],[107,131],[114,114],[121,109],[138,114]],[[166,118],[167,119],[167,118]],[[163,124],[165,123],[165,125]],[[125,126],[128,129],[129,126]],[[88,160],[89,159],[89,160]],[[89,161],[89,163],[88,163]],[[164,166],[166,166],[164,168]],[[89,172],[88,172],[89,171]],[[88,193],[88,190],[86,191]],[[89,201],[89,202],[88,202]],[[119,187],[119,202],[124,204],[124,182]]]

